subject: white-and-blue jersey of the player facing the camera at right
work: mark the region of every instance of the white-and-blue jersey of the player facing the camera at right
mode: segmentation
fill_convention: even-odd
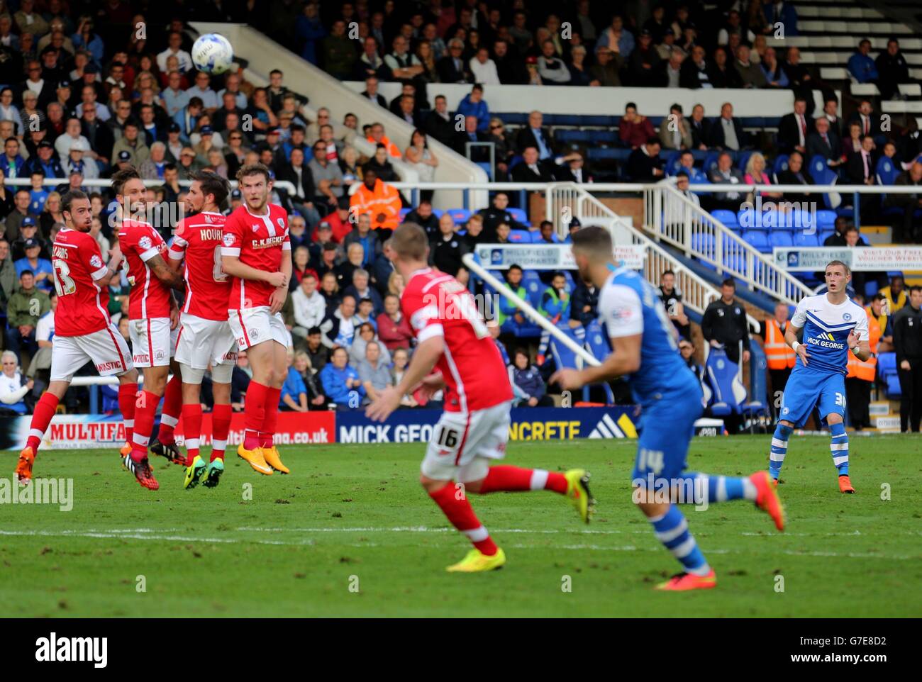
[[[859,341],[867,341],[868,315],[852,300],[833,305],[826,294],[801,299],[791,324],[803,328],[802,343],[807,347],[807,367],[798,356],[795,370],[847,373],[848,334],[854,329]]]

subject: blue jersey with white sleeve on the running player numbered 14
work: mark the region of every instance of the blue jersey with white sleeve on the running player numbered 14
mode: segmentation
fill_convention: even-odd
[[[612,338],[643,335],[640,369],[628,377],[641,406],[694,387],[700,393],[698,380],[681,358],[659,292],[637,272],[619,267],[611,273],[598,294],[598,319]]]

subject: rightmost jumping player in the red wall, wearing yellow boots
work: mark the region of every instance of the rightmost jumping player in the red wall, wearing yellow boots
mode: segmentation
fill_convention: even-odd
[[[233,277],[228,317],[237,346],[246,351],[253,381],[246,390],[246,429],[237,454],[260,474],[288,474],[273,443],[278,397],[288,375],[289,331],[278,312],[288,297],[291,241],[288,213],[268,203],[269,170],[261,163],[237,171],[243,204],[224,224],[221,262]]]

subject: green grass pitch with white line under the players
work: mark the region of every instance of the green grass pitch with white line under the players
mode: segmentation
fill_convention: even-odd
[[[769,440],[696,440],[690,468],[748,475],[767,465]],[[784,534],[749,502],[686,508],[719,579],[694,594],[651,589],[679,565],[632,508],[634,448],[510,443],[509,464],[589,468],[597,517],[586,529],[549,492],[471,496],[508,557],[473,575],[444,572],[468,545],[418,484],[421,445],[284,447],[291,476],[234,456],[217,489],[183,490],[180,467],[158,460],[158,492],[115,453],[42,452],[36,476],[73,477],[74,508],[0,506],[0,617],[922,616],[917,437],[853,437],[854,496],[838,491],[828,439],[794,437]],[[14,463],[0,454],[5,477]]]

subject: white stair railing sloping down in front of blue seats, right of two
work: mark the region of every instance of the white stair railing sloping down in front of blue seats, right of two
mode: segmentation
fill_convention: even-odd
[[[813,293],[668,183],[656,184],[644,192],[644,228],[657,241],[693,254],[776,300],[796,305]]]

